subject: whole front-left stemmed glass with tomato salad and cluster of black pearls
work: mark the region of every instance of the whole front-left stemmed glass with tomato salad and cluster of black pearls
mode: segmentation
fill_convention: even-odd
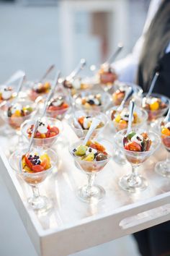
[[[9,158],[10,166],[17,174],[32,187],[33,196],[27,199],[31,208],[44,213],[52,207],[53,203],[48,197],[41,196],[39,186],[49,176],[57,162],[56,153],[49,148],[32,147],[15,150]]]

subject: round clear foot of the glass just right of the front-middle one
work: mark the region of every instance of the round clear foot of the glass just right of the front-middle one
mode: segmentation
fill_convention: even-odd
[[[143,176],[125,175],[120,178],[120,187],[128,192],[135,193],[145,190],[148,187],[148,182]]]

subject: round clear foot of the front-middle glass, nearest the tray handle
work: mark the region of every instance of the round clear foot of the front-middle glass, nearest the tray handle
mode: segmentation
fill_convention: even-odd
[[[105,190],[103,187],[99,185],[95,185],[88,189],[87,186],[81,187],[78,192],[77,196],[83,202],[93,203],[102,200],[105,196]]]

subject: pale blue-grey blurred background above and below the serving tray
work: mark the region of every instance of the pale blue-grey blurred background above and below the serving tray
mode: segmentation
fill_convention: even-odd
[[[120,57],[125,56],[140,36],[148,4],[148,0],[0,0],[0,83],[17,69],[33,79],[50,64],[63,74],[82,57],[89,65],[100,64],[120,41],[125,45]],[[0,256],[37,256],[3,180],[0,226]],[[132,236],[125,236],[75,254],[105,255],[138,256],[138,252]]]

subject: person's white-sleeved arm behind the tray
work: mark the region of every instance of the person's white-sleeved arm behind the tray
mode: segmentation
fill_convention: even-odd
[[[133,52],[126,56],[124,59],[120,59],[120,61],[115,61],[115,63],[112,64],[112,67],[115,69],[115,72],[117,72],[120,81],[135,81],[135,76],[138,69],[138,61],[140,58],[141,49],[143,47],[143,41],[145,40],[146,31],[148,30],[148,27],[151,24],[151,20],[156,14],[160,4],[161,0],[151,1],[150,7],[148,9],[146,23],[143,28],[143,33],[138,41],[135,43]]]

